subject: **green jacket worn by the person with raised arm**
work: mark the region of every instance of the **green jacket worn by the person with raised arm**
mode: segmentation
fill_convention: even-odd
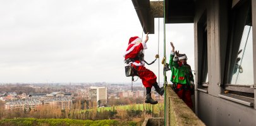
[[[180,84],[194,84],[193,74],[190,65],[179,65],[178,59],[174,58],[174,52],[171,52],[169,67],[171,68],[171,82]]]

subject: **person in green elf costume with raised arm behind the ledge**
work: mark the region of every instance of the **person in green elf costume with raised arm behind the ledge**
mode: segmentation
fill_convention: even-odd
[[[194,85],[193,74],[190,65],[186,63],[186,54],[179,54],[174,51],[173,42],[171,42],[171,55],[169,60],[169,67],[171,69],[171,82],[176,94],[188,105],[193,107],[192,103],[192,89]]]

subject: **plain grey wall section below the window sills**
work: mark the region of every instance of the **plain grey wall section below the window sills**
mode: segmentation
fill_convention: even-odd
[[[198,117],[206,125],[256,125],[252,107],[200,91],[198,97]]]

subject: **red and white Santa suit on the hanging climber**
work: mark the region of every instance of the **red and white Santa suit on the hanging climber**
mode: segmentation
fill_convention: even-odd
[[[146,42],[141,42],[142,40],[139,37],[131,37],[128,43],[128,48],[125,52],[125,60],[126,59],[135,59],[139,52],[143,49],[147,49]],[[156,83],[157,77],[154,72],[150,71],[145,67],[145,62],[140,60],[135,60],[134,62],[130,62],[131,66],[133,66],[138,71],[138,77],[142,79],[142,83],[145,88],[152,88],[152,85]]]

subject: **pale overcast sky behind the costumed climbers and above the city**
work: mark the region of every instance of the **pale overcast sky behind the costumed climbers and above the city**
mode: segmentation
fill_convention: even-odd
[[[130,37],[142,37],[131,0],[0,0],[0,17],[0,83],[131,80],[125,76],[123,54]],[[145,50],[148,62],[158,52],[157,26],[155,18],[155,34],[149,35]],[[162,19],[159,31],[161,62]],[[193,32],[193,24],[166,25],[168,62],[172,41],[177,50],[188,55],[194,69]],[[146,67],[158,77],[158,62]]]

